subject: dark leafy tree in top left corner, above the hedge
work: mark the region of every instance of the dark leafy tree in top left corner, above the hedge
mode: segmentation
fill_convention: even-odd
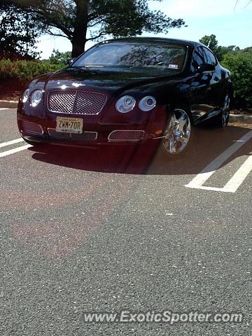
[[[35,44],[39,33],[28,11],[8,9],[0,5],[0,57],[37,57]]]

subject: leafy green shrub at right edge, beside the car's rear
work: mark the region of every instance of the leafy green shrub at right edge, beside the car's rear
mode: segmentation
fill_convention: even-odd
[[[229,52],[222,65],[230,69],[235,107],[252,108],[252,52]]]

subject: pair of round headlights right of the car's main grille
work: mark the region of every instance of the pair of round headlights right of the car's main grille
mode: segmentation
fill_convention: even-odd
[[[136,106],[136,99],[132,96],[123,96],[118,99],[116,102],[116,109],[120,113],[128,113],[134,109]],[[147,96],[140,100],[139,109],[141,111],[147,112],[154,109],[157,102],[154,97]]]

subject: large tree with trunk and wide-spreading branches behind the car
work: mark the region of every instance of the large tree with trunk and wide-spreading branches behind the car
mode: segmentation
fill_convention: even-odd
[[[44,32],[68,38],[72,43],[72,57],[85,50],[87,41],[106,35],[136,36],[143,31],[167,33],[170,28],[185,25],[182,19],[173,20],[160,10],[150,10],[146,0],[2,1],[15,5],[18,10],[29,10]]]

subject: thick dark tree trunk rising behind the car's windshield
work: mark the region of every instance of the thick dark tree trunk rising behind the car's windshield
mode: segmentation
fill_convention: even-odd
[[[71,57],[78,57],[87,42],[88,0],[76,1],[76,22],[73,29]]]

